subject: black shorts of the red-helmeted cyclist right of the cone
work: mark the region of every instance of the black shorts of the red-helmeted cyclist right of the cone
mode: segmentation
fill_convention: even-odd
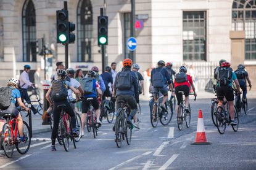
[[[234,90],[231,86],[222,86],[216,87],[216,93],[218,100],[223,101],[223,98],[225,97],[227,101],[233,101],[234,100]]]

